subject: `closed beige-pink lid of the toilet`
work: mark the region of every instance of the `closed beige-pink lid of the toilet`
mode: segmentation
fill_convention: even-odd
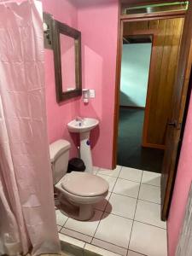
[[[61,187],[73,195],[96,196],[108,192],[108,182],[88,172],[71,172],[64,177]]]

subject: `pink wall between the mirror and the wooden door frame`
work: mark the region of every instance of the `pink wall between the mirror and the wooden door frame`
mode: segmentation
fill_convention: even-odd
[[[88,105],[80,102],[80,114],[100,120],[91,136],[93,163],[109,168],[112,166],[118,0],[95,1],[90,6],[79,7],[78,20],[82,32],[83,87],[96,90],[96,98],[90,99]]]

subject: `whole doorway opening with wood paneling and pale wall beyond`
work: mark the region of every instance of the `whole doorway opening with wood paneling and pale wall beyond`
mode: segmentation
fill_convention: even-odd
[[[125,21],[117,163],[161,172],[183,17]]]

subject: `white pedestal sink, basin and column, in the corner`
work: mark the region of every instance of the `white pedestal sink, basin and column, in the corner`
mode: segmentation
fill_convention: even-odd
[[[67,124],[68,131],[80,134],[80,157],[86,166],[85,172],[92,172],[92,156],[90,152],[90,131],[99,124],[97,119],[77,118]]]

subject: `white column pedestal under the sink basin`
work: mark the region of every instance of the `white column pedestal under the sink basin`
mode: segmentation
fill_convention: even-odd
[[[80,133],[80,158],[86,166],[85,172],[93,171],[92,156],[90,152],[90,131]]]

